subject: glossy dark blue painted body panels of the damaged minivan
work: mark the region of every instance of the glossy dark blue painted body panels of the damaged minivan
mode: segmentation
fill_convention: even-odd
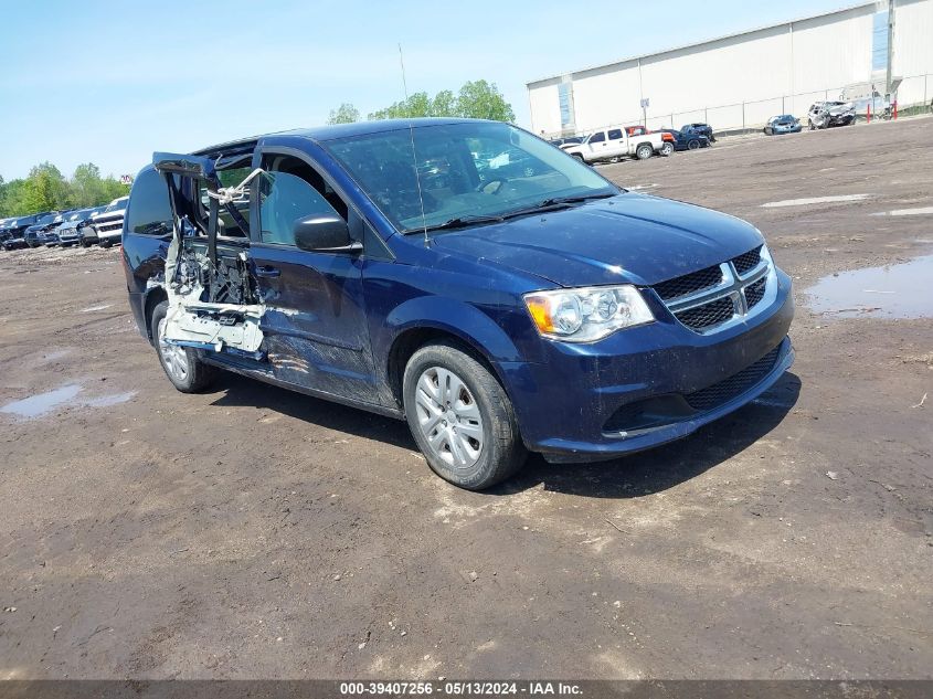
[[[409,121],[402,124],[409,128]],[[367,126],[400,128],[391,121]],[[418,126],[414,120],[413,127]],[[412,331],[447,333],[489,362],[515,405],[526,445],[552,460],[611,458],[685,436],[748,403],[791,366],[786,335],[793,304],[783,273],[777,273],[777,294],[768,308],[712,335],[680,325],[646,288],[760,245],[763,239],[751,224],[691,204],[622,192],[565,210],[432,233],[427,241],[401,235],[327,151],[329,137],[369,133],[363,128],[330,127],[256,141],[254,167],[267,149],[303,153],[350,204],[356,236],[362,237],[369,226],[382,248],[373,258],[369,250],[358,257],[282,247],[273,254],[254,241],[250,255],[257,266],[272,260],[295,265],[294,290],[299,279],[307,284],[310,265],[310,278],[317,279],[311,286],[319,294],[299,292],[286,299],[290,307],[296,301],[311,306],[301,308],[306,313],[297,319],[274,308],[264,317],[271,360],[284,358],[279,363],[288,370],[279,370],[275,361],[264,367],[242,357],[205,356],[212,363],[403,417],[391,367],[396,341]],[[131,208],[130,197],[128,219]],[[147,299],[158,288],[149,279],[160,273],[166,245],[165,237],[124,235],[130,306],[146,337]],[[272,306],[276,294],[282,300],[282,288],[259,283]],[[656,321],[592,343],[541,338],[522,300],[532,290],[621,283],[643,288]],[[778,346],[773,370],[713,411],[633,434],[603,432],[607,419],[627,403],[709,386]]]

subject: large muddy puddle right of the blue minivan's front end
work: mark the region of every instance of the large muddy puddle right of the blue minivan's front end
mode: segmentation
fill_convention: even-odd
[[[809,307],[841,318],[933,317],[933,255],[821,278],[807,289]]]

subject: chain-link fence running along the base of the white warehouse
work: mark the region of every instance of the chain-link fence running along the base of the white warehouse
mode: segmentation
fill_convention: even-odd
[[[806,114],[815,102],[840,99],[846,87],[827,87],[808,93],[783,95],[770,99],[755,99],[740,102],[730,105],[718,105],[698,107],[686,112],[670,112],[667,114],[655,114],[648,109],[647,118],[637,113],[628,115],[627,118],[619,118],[612,124],[593,126],[586,129],[577,129],[577,135],[591,134],[593,131],[616,125],[645,124],[649,129],[680,128],[685,124],[702,121],[710,124],[715,131],[743,131],[761,129],[773,116],[781,114],[793,114],[806,124]],[[848,97],[847,99],[850,99]],[[933,99],[933,75],[912,75],[903,78],[898,92],[894,95],[898,102],[898,109],[911,109],[927,107]],[[862,109],[863,113],[863,109]],[[566,133],[549,134],[548,137],[568,136]]]

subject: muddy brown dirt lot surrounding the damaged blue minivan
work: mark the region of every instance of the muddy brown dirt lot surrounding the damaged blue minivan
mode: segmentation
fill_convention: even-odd
[[[756,224],[797,363],[691,438],[486,494],[403,423],[177,393],[118,250],[0,253],[0,405],[61,389],[0,413],[0,677],[933,677],[933,321],[805,294],[933,250],[930,214],[872,215],[933,205],[933,119],[601,171]]]

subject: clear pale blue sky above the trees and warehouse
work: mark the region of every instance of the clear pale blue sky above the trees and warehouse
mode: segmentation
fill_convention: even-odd
[[[399,43],[409,92],[486,78],[528,126],[530,80],[845,4],[9,2],[0,32],[0,174],[24,177],[44,160],[65,176],[87,161],[105,174],[135,173],[153,150],[315,126],[341,102],[365,115],[403,97]],[[661,19],[636,19],[655,13]]]

